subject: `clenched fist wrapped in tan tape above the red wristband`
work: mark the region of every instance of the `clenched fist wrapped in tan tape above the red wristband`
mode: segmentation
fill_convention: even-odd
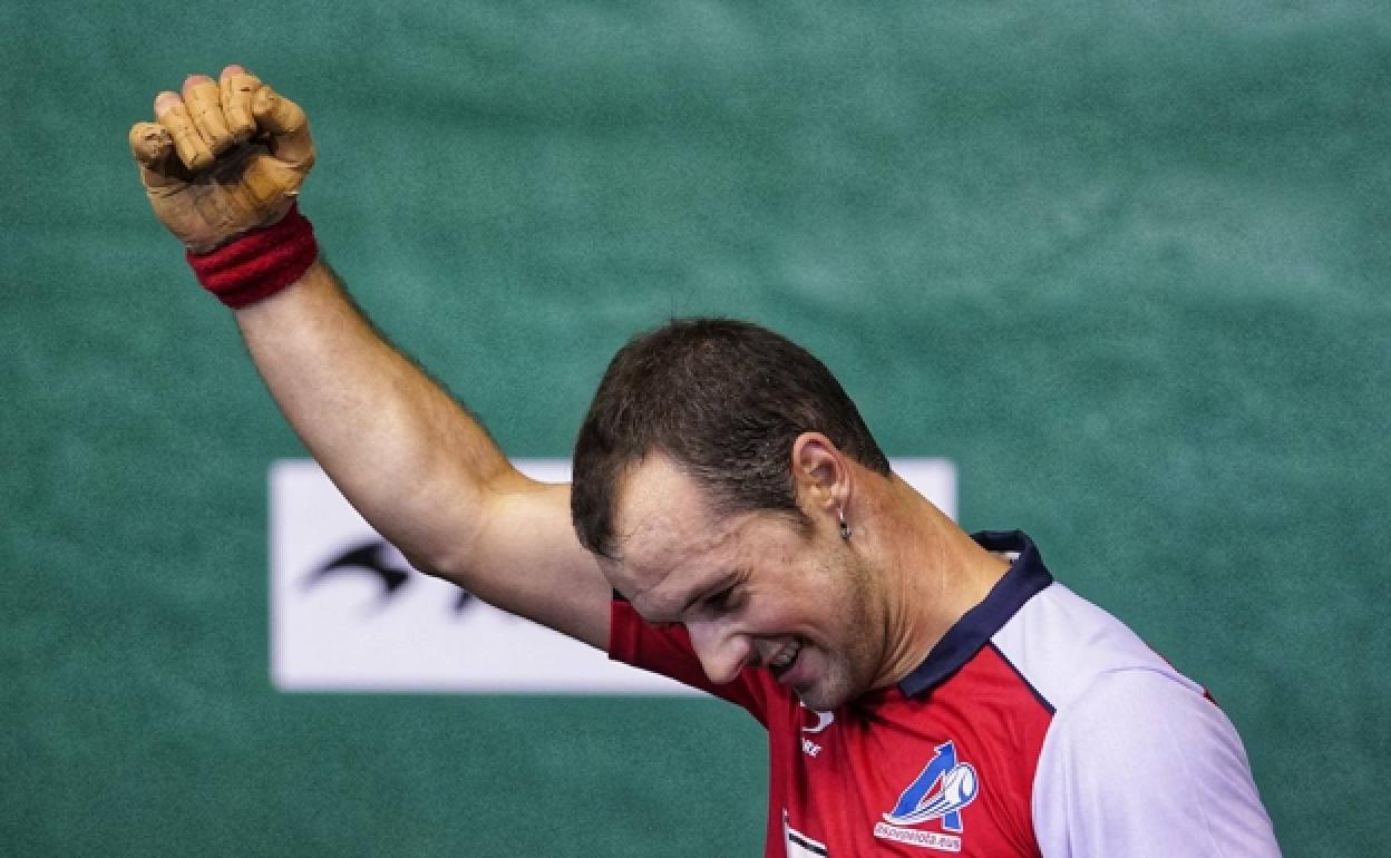
[[[305,111],[241,65],[156,96],[131,153],[154,216],[195,253],[282,218],[314,164]]]

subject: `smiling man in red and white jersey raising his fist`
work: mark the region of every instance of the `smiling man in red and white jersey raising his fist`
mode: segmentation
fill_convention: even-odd
[[[294,199],[303,113],[243,68],[132,152],[349,501],[421,570],[769,730],[768,855],[1277,855],[1231,723],[1020,533],[893,474],[830,373],[741,323],[613,359],[574,485],[519,474],[353,307]]]

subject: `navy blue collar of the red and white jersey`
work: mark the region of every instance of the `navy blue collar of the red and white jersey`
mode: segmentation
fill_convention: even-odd
[[[1053,574],[1043,566],[1039,549],[1024,531],[985,530],[971,534],[971,538],[986,551],[1018,552],[1020,556],[989,595],[963,613],[956,626],[942,636],[928,658],[899,683],[904,697],[917,697],[946,681],[990,642],[990,637],[1018,613],[1024,602],[1053,583]]]

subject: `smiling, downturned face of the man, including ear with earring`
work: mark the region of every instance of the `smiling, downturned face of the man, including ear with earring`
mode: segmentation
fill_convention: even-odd
[[[684,627],[711,683],[762,667],[804,705],[828,711],[885,679],[890,591],[862,537],[847,541],[833,517],[840,503],[878,495],[878,477],[821,432],[803,434],[791,458],[801,520],[716,515],[694,477],[648,455],[623,476],[619,558],[600,566],[644,620]]]

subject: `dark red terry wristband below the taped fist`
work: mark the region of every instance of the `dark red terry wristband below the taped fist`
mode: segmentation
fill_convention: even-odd
[[[277,222],[210,250],[185,253],[203,288],[234,310],[280,292],[319,259],[314,228],[294,203]]]

